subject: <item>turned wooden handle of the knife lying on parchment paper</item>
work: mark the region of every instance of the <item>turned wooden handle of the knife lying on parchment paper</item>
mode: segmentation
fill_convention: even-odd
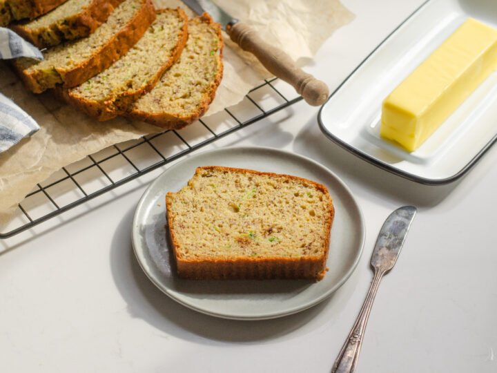
[[[324,82],[304,73],[289,55],[267,44],[249,25],[237,22],[228,25],[226,32],[243,50],[255,55],[270,73],[291,84],[308,104],[319,106],[327,100],[329,90]]]

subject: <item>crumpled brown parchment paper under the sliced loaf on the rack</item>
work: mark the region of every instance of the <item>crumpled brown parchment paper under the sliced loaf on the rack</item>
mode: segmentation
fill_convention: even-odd
[[[339,0],[215,0],[233,17],[246,21],[274,46],[303,66],[335,30],[353,14]],[[182,6],[179,0],[154,0],[157,8]],[[269,73],[249,53],[224,34],[224,74],[206,116],[240,102]],[[0,92],[29,113],[41,129],[8,151],[0,153],[0,223],[7,222],[17,204],[37,183],[61,167],[112,144],[162,131],[143,122],[117,117],[108,122],[75,111],[50,92],[30,93],[0,61]]]

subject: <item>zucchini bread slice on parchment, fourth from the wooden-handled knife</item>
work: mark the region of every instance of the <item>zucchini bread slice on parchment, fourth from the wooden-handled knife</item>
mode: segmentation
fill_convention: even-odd
[[[33,21],[10,26],[39,48],[87,37],[123,0],[67,0]]]

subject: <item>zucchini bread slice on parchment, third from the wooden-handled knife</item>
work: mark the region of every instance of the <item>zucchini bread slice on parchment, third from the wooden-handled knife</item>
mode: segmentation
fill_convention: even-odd
[[[57,84],[77,86],[124,55],[154,19],[151,0],[125,0],[90,36],[48,49],[42,61],[17,59],[14,68],[35,93]]]

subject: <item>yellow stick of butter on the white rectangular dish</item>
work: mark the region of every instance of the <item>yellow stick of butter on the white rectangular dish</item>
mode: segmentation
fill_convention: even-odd
[[[497,67],[497,30],[467,19],[384,99],[381,135],[414,151]]]

